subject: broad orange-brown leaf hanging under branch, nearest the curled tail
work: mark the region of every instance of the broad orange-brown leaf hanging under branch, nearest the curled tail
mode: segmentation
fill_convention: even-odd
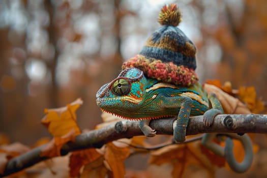
[[[172,177],[182,177],[188,166],[198,165],[202,167],[210,177],[215,174],[214,165],[206,159],[199,149],[199,141],[174,144],[153,151],[149,160],[150,164],[172,165]]]

